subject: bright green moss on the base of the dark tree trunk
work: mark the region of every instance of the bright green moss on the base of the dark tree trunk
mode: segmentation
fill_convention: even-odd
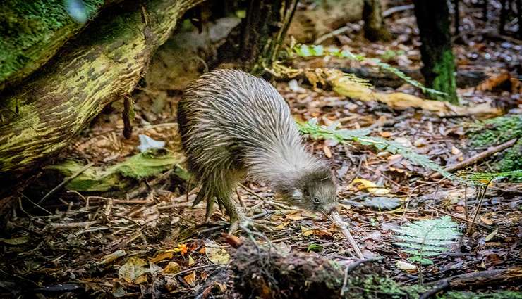
[[[439,94],[430,94],[430,97],[441,100],[449,101],[450,103],[459,103],[459,98],[456,95],[456,66],[455,56],[451,52],[451,49],[447,49],[440,56],[439,61],[435,63],[433,71],[437,74],[433,79],[432,89],[442,91],[447,96],[441,96]]]

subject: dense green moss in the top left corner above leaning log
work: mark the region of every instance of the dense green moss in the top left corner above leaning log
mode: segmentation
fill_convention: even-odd
[[[83,0],[92,18],[103,0]],[[56,53],[84,24],[76,23],[63,0],[5,0],[0,11],[0,87],[25,77]]]

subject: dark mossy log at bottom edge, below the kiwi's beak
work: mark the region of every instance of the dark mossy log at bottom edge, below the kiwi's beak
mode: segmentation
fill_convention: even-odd
[[[243,298],[411,298],[382,272],[379,260],[348,266],[311,253],[278,253],[244,243],[231,264],[234,288]],[[379,295],[374,295],[379,294]]]

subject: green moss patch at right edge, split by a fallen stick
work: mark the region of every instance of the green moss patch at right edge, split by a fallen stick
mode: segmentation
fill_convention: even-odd
[[[522,115],[477,122],[471,125],[468,134],[471,136],[471,145],[477,147],[494,146],[518,138],[517,143],[505,151],[502,160],[495,166],[499,172],[522,170]]]

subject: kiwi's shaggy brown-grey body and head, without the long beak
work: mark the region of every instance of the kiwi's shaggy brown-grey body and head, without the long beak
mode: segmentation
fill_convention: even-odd
[[[239,70],[207,72],[183,93],[178,124],[189,170],[202,186],[195,202],[207,201],[207,217],[216,198],[231,221],[237,218],[231,193],[247,175],[301,208],[335,207],[329,167],[305,150],[289,106],[265,80]]]

